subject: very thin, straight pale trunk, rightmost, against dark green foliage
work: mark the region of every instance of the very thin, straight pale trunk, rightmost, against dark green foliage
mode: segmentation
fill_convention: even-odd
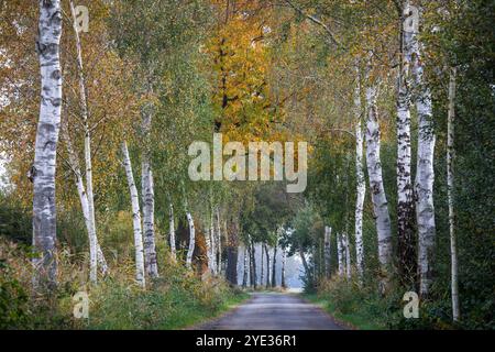
[[[454,123],[455,123],[455,76],[457,69],[450,69],[449,80],[449,116],[447,120],[447,191],[449,199],[449,232],[451,257],[451,290],[452,290],[452,318],[460,319],[459,283],[458,283],[458,246],[455,239],[455,209],[454,209]]]

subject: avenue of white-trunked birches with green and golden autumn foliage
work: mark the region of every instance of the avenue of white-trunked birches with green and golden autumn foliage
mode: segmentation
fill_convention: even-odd
[[[0,298],[122,282],[136,301],[194,286],[220,307],[237,286],[285,288],[296,257],[308,293],[370,297],[389,326],[493,328],[494,13],[482,0],[1,1]],[[307,189],[193,182],[189,145],[215,133],[308,142]]]

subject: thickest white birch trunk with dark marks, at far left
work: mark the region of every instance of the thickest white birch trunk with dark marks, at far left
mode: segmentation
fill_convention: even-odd
[[[40,120],[30,170],[33,182],[34,287],[56,286],[55,172],[62,112],[62,70],[59,44],[62,9],[59,0],[40,0],[36,52],[41,74]]]

